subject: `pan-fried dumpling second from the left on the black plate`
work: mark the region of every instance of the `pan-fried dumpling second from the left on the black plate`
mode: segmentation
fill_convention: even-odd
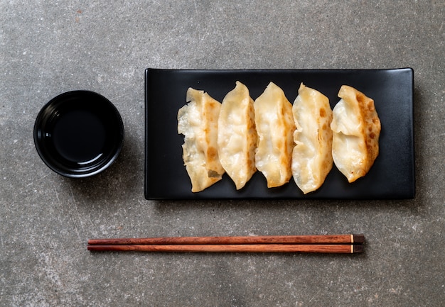
[[[218,118],[218,155],[237,189],[245,186],[257,170],[256,145],[253,100],[247,86],[237,81],[235,89],[223,99]]]

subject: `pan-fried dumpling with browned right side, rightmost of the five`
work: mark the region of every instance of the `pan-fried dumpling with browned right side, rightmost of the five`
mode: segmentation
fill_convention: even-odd
[[[333,108],[332,155],[336,167],[354,182],[368,173],[379,154],[380,119],[374,101],[351,86],[338,91]]]

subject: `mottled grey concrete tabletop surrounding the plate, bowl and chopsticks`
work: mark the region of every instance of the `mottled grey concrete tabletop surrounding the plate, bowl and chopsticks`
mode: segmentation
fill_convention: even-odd
[[[445,3],[0,1],[0,306],[443,306]],[[414,69],[417,196],[146,201],[144,69]],[[124,150],[91,179],[33,145],[46,101],[90,89]],[[363,255],[91,253],[88,238],[364,233]]]

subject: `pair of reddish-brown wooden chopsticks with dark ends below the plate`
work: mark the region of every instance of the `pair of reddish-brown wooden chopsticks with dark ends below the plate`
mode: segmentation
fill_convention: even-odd
[[[267,235],[88,240],[90,251],[136,252],[363,252],[364,235]]]

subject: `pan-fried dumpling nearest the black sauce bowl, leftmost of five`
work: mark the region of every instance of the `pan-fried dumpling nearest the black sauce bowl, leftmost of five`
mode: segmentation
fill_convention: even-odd
[[[224,169],[218,159],[218,116],[221,104],[204,91],[189,88],[178,111],[178,133],[184,135],[183,160],[192,183],[192,192],[222,179]]]

